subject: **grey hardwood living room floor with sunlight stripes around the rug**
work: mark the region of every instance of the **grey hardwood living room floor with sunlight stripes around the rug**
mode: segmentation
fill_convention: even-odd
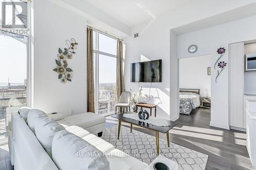
[[[199,108],[190,115],[181,114],[177,121],[179,124],[170,130],[170,142],[207,154],[206,169],[253,169],[246,149],[246,134],[210,127],[209,109]],[[107,122],[106,127],[117,124],[112,117],[107,117]],[[133,129],[155,135],[150,130],[139,127]],[[166,140],[165,134],[160,133],[159,137]]]

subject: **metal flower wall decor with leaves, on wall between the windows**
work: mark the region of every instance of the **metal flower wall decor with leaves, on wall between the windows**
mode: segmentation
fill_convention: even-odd
[[[75,50],[77,49],[76,45],[78,43],[74,38],[71,38],[71,40],[66,40],[66,45],[67,47],[64,50],[61,50],[61,48],[58,49],[58,59],[55,59],[57,67],[53,69],[58,73],[58,79],[61,79],[61,83],[71,82],[73,70],[68,67],[68,60],[73,58],[73,54],[76,54]]]

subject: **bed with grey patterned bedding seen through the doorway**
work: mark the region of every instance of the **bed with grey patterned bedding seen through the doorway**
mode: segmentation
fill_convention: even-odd
[[[190,114],[201,105],[199,89],[180,89],[180,113]]]

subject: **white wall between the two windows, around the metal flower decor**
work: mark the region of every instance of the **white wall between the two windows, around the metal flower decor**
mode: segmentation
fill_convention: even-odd
[[[33,1],[34,9],[34,94],[33,107],[45,112],[62,111],[69,114],[87,110],[86,56],[87,20],[50,1]],[[58,48],[66,47],[66,40],[75,38],[79,43],[76,54],[69,60],[73,69],[72,82],[61,83],[55,58]]]

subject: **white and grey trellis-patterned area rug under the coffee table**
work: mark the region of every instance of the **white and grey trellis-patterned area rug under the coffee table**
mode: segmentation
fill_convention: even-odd
[[[121,126],[120,138],[117,139],[118,126],[106,128],[102,134],[102,139],[110,142],[119,149],[129,155],[150,164],[156,157],[156,138],[151,135],[133,130],[130,133],[130,128]],[[176,161],[179,169],[205,169],[208,155],[202,154],[182,147],[178,144],[170,143],[167,146],[167,141],[159,139],[159,153],[168,159]]]

